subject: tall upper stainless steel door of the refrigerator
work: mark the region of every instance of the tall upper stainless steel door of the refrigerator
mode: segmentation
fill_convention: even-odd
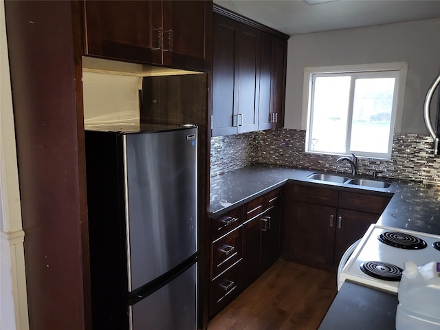
[[[197,251],[197,128],[124,138],[132,291]]]

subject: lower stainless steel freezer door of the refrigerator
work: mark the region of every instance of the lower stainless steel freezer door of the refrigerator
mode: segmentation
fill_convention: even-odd
[[[197,263],[131,306],[131,329],[197,329],[196,276]]]

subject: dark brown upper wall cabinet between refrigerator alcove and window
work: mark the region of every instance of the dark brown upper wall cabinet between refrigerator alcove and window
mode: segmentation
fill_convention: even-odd
[[[288,36],[214,5],[212,136],[284,125]]]

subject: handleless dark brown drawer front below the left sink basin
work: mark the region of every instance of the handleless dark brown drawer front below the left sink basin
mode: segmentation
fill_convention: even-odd
[[[338,190],[294,184],[292,199],[325,206],[337,206]]]

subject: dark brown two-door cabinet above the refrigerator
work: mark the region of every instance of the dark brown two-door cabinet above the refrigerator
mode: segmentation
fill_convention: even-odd
[[[212,1],[85,1],[84,54],[207,71]]]

